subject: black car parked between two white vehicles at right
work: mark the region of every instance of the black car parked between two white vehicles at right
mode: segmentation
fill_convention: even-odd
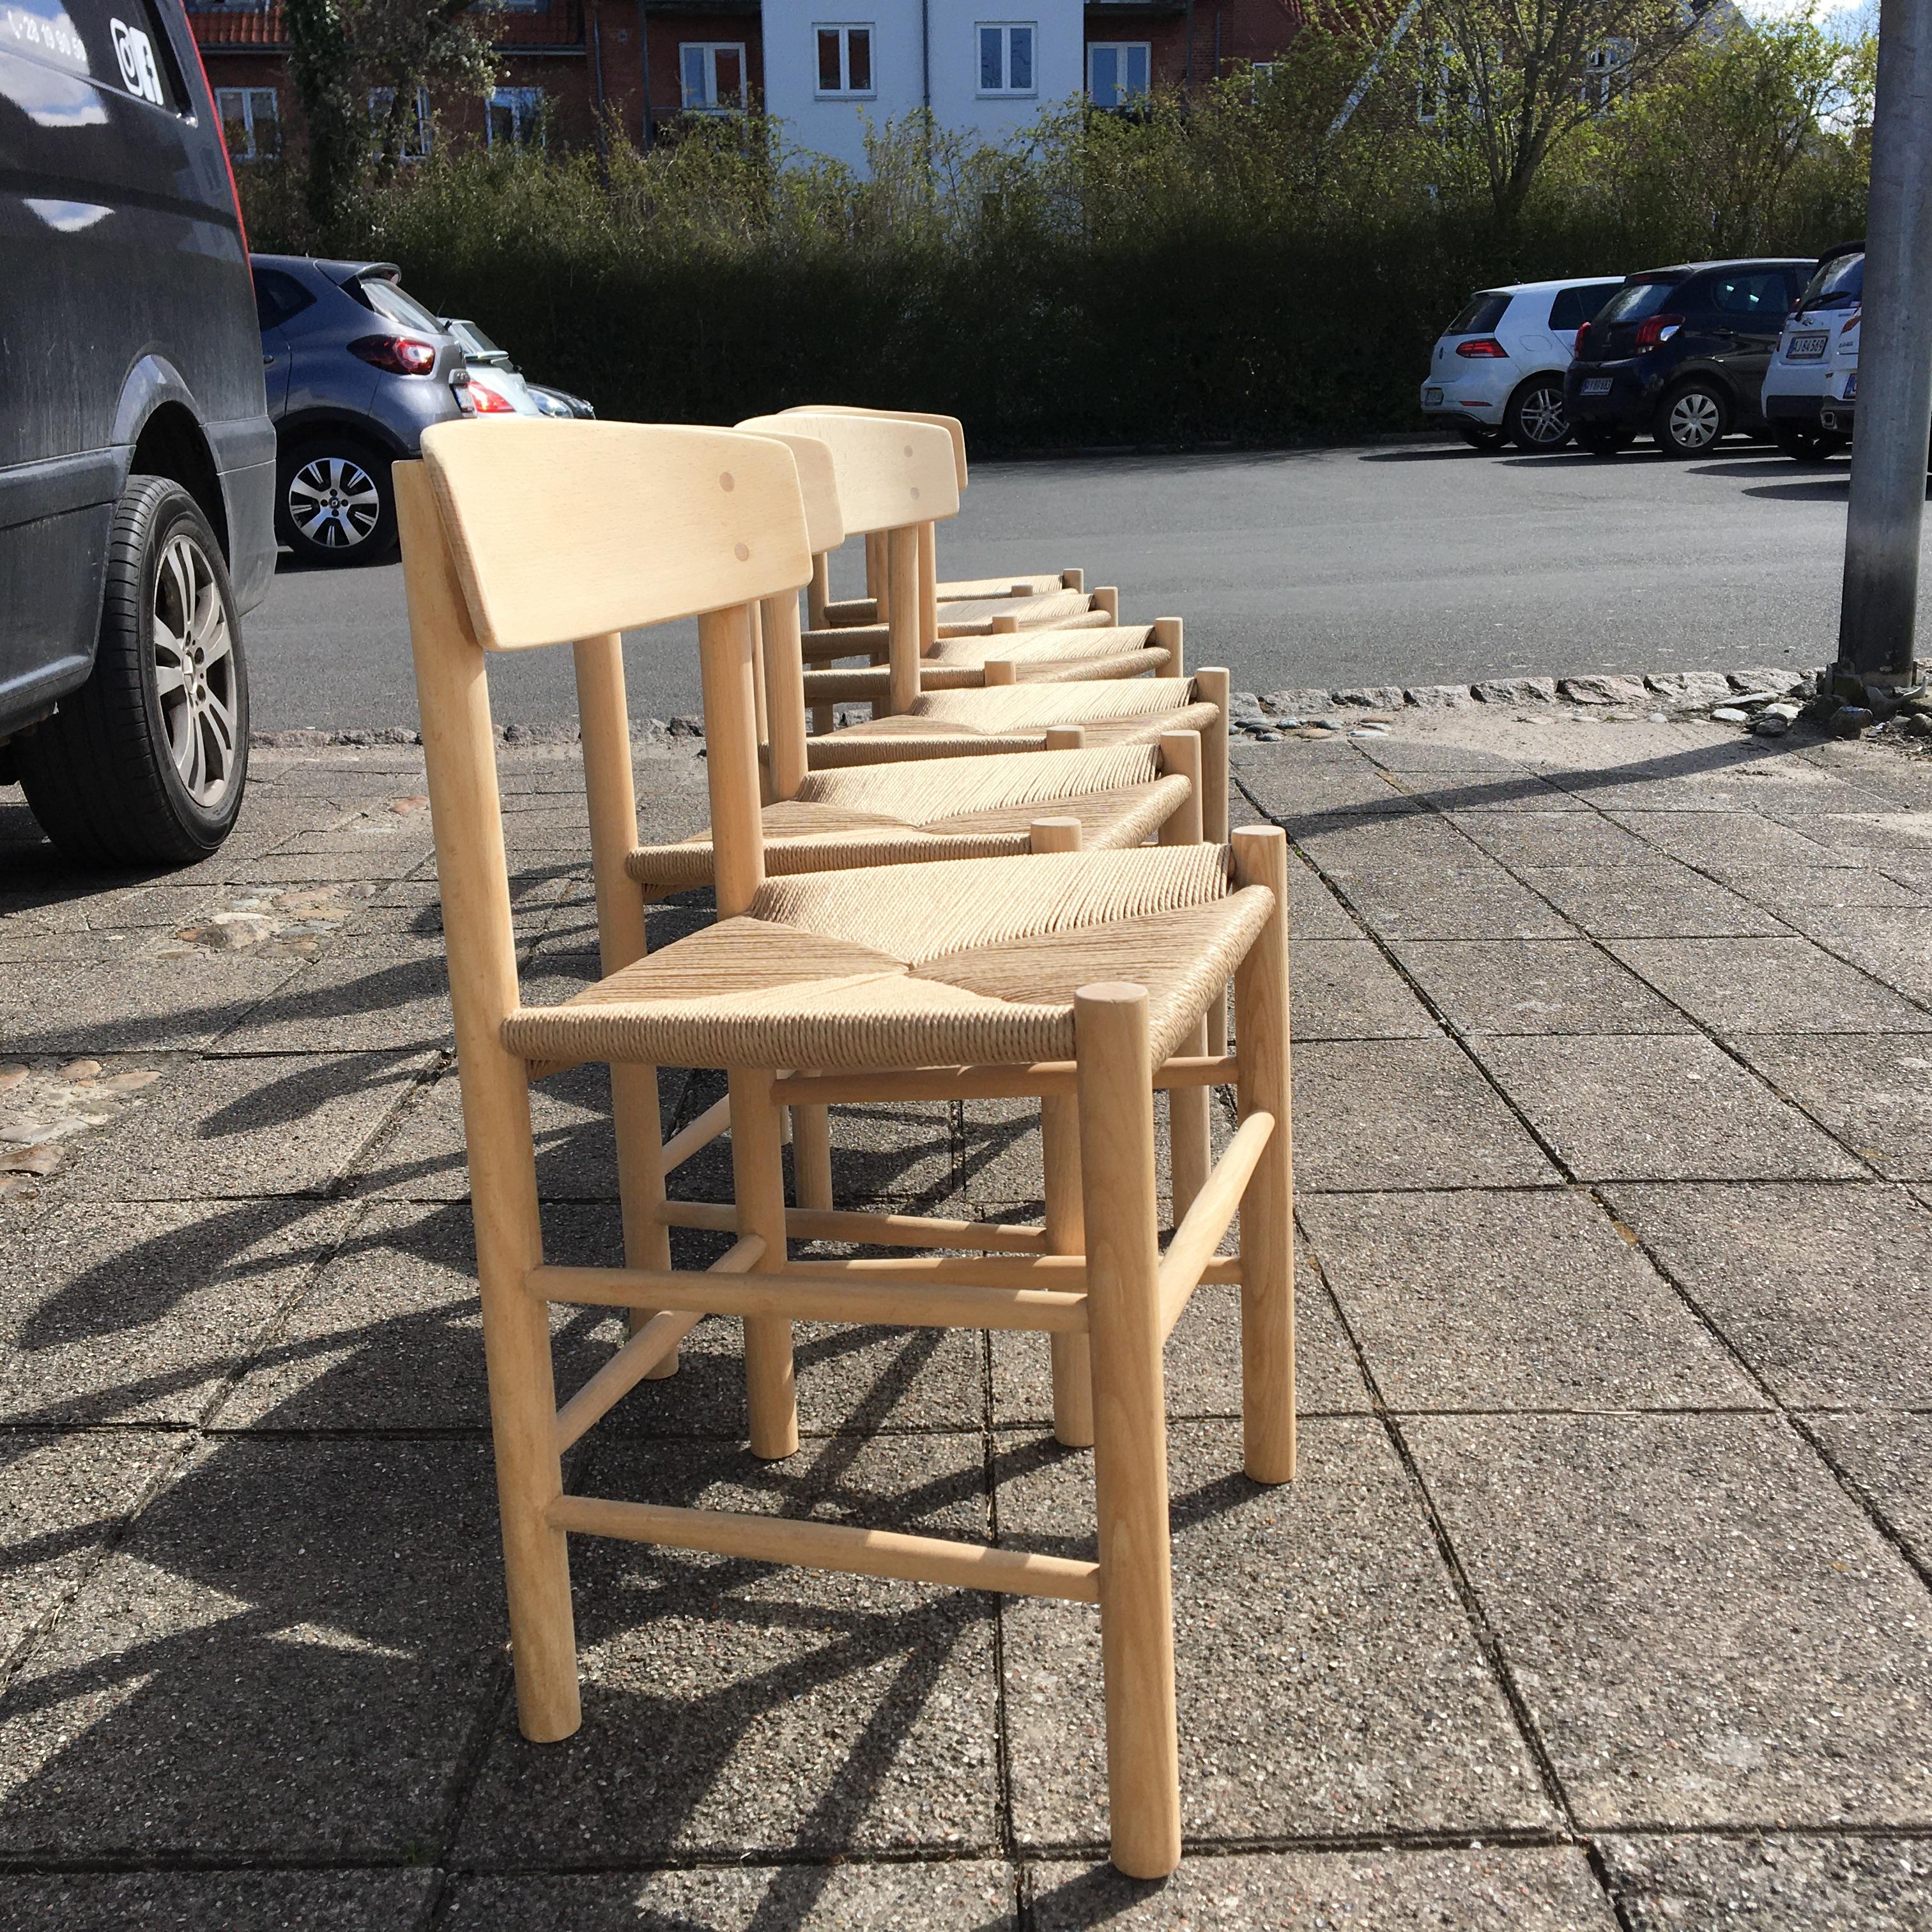
[[[1733,429],[1764,433],[1758,398],[1810,259],[1700,261],[1633,274],[1577,336],[1563,410],[1596,454],[1638,435],[1702,456]]]

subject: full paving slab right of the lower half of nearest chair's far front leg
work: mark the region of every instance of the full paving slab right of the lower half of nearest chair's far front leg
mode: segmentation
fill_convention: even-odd
[[[1764,1406],[1580,1190],[1329,1194],[1302,1225],[1391,1408]]]

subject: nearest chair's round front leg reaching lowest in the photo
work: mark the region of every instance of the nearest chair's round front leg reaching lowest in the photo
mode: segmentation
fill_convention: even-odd
[[[1165,1878],[1180,1862],[1180,1752],[1146,991],[1080,987],[1074,1051],[1113,1862]]]

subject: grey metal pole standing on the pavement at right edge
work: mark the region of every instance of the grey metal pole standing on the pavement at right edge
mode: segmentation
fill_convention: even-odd
[[[1837,670],[1911,682],[1932,437],[1932,0],[1880,0]]]

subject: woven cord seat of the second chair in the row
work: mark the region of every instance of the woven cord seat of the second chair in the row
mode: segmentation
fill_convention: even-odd
[[[1163,777],[1161,748],[1134,744],[811,773],[759,817],[765,869],[796,873],[1020,854],[1041,811],[1078,821],[1084,850],[1121,850],[1155,837],[1190,798],[1188,773]],[[639,846],[624,869],[657,893],[709,885],[711,833]]]

